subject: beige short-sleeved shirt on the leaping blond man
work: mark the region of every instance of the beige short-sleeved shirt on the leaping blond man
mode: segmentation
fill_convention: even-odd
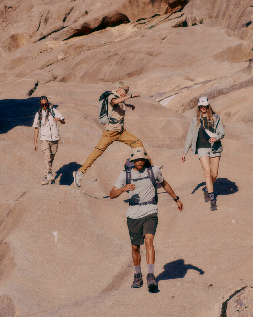
[[[113,107],[115,106],[114,103],[112,103],[112,99],[115,99],[115,96],[118,96],[121,98],[119,94],[116,93],[115,90],[112,91],[113,94],[109,95],[108,97],[108,115],[112,112]],[[118,121],[124,120],[125,117],[125,102],[120,102],[118,106],[115,108],[115,110],[112,113],[111,118],[114,118]],[[124,129],[124,122],[123,123],[107,123],[104,127],[104,130],[109,130],[109,131],[118,131],[121,132]]]

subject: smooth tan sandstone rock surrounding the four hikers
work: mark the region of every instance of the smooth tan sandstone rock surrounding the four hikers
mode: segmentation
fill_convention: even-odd
[[[246,0],[1,2],[1,317],[217,317],[230,294],[252,284],[251,6]],[[130,287],[127,193],[108,197],[131,149],[114,142],[81,188],[73,184],[72,172],[102,135],[98,98],[120,79],[140,94],[129,100],[135,110],[126,110],[127,131],[164,165],[164,179],[184,204],[179,213],[158,188],[154,294],[145,283]],[[40,185],[43,153],[33,150],[41,95],[66,120],[59,125],[55,182],[47,186]],[[215,212],[204,202],[196,155],[181,162],[201,96],[225,126]],[[144,246],[141,257],[145,279]],[[228,301],[227,316],[251,312],[251,290]]]

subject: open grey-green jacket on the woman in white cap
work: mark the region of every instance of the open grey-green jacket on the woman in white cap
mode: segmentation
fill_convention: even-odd
[[[213,119],[214,119],[214,133],[218,134],[215,139],[217,139],[217,142],[214,142],[212,144],[212,152],[221,152],[223,151],[220,139],[224,138],[225,131],[222,125],[222,122],[219,118],[219,114],[213,113]],[[183,154],[187,154],[189,151],[189,148],[192,147],[192,154],[197,154],[197,139],[198,139],[198,133],[199,133],[200,124],[197,126],[197,116],[192,119],[185,144],[184,144],[184,150]]]

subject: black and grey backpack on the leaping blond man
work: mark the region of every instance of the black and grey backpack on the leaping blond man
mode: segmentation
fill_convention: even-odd
[[[113,107],[113,110],[108,115],[108,97],[110,94],[113,94],[111,91],[105,91],[99,98],[98,102],[98,121],[99,123],[105,125],[107,123],[122,123],[124,120],[116,120],[111,118],[113,111],[117,108],[118,104]],[[118,96],[114,95],[115,98],[119,98]]]

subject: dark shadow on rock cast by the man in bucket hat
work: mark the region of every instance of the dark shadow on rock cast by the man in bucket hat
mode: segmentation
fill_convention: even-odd
[[[160,273],[156,277],[156,281],[161,280],[171,280],[175,278],[183,278],[187,273],[187,270],[196,270],[200,275],[203,275],[205,272],[200,268],[193,266],[191,264],[184,264],[184,260],[176,260],[164,265],[164,272]]]

